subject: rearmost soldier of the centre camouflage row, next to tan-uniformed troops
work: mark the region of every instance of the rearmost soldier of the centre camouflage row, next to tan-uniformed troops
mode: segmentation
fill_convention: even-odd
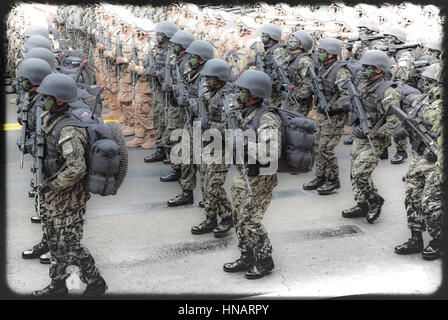
[[[189,61],[190,55],[187,54],[188,46],[194,41],[193,34],[188,31],[177,31],[170,39],[173,43],[173,52],[176,54],[176,60],[174,61],[175,66],[173,67],[173,79],[176,79],[176,65],[179,69],[179,74],[183,75],[185,72],[185,66]],[[180,79],[182,81],[182,79]],[[175,80],[177,81],[177,80]],[[178,92],[174,91],[174,95],[177,97]],[[171,153],[171,149],[174,146],[174,141],[171,141],[171,133],[176,129],[181,129],[184,127],[186,121],[189,119],[184,119],[184,112],[182,107],[177,104],[177,99],[171,99],[170,106],[168,108],[168,120],[165,131],[163,132],[162,144],[164,145],[168,155]],[[160,177],[162,182],[178,181],[181,177],[181,166],[178,163],[170,161],[171,171]]]

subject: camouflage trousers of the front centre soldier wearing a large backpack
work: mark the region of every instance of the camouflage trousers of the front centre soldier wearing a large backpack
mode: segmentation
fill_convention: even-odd
[[[272,190],[277,185],[277,175],[250,177],[249,180],[252,196],[244,184],[234,183],[232,186],[233,225],[241,253],[253,253],[261,260],[272,254],[271,241],[261,220],[271,202]]]

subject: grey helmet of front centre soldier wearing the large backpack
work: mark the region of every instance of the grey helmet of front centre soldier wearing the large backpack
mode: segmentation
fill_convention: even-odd
[[[235,86],[245,88],[258,98],[270,98],[272,81],[269,76],[258,70],[246,70],[235,81]]]

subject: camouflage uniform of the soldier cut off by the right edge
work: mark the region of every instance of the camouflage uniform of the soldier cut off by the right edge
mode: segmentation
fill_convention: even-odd
[[[414,102],[410,117],[433,124],[434,119],[441,118],[441,105],[440,97],[434,97],[431,93],[424,95]],[[436,136],[436,131],[432,131]],[[405,206],[409,229],[419,232],[426,229],[432,238],[441,239],[441,175],[437,171],[436,163],[426,160],[414,151],[406,174]]]

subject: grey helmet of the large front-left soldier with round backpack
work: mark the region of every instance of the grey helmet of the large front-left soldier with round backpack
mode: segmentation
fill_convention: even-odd
[[[73,102],[78,98],[78,86],[69,75],[53,73],[44,78],[37,92],[52,96],[61,102]]]

